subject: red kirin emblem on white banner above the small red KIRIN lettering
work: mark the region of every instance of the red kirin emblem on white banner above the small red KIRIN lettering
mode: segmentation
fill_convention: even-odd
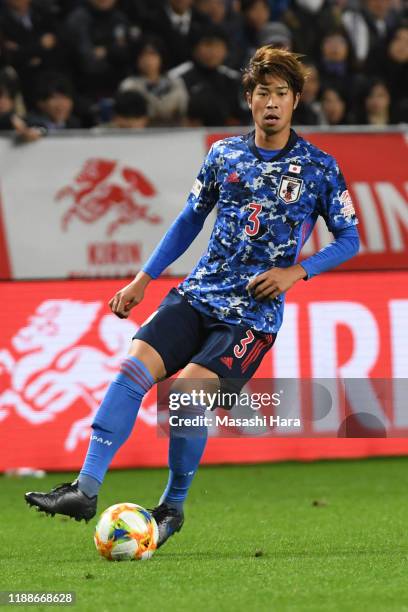
[[[107,236],[112,236],[122,225],[135,221],[160,223],[161,217],[149,212],[149,204],[139,201],[139,198],[149,200],[155,195],[153,184],[140,170],[122,167],[115,160],[94,158],[84,163],[74,185],[66,185],[57,192],[55,200],[72,200],[62,219],[64,230],[74,217],[84,223],[95,223],[113,212],[114,220],[106,231]]]

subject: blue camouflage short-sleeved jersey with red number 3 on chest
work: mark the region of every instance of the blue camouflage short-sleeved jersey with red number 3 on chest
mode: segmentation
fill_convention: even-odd
[[[178,290],[205,314],[264,333],[279,330],[284,295],[257,301],[248,281],[295,264],[319,215],[333,232],[357,224],[335,159],[293,130],[269,161],[254,133],[216,142],[187,201],[204,216],[215,206],[207,251]]]

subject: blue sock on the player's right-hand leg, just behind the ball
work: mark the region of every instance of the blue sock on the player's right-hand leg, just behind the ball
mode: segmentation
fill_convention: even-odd
[[[177,411],[180,417],[205,416],[205,408]],[[166,503],[179,512],[198,469],[207,443],[207,427],[170,427],[169,480],[159,503]]]

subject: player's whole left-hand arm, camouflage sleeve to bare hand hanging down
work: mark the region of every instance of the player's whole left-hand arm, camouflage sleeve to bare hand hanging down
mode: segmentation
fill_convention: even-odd
[[[147,285],[156,279],[178,259],[203,228],[204,221],[213,209],[217,198],[216,173],[213,149],[208,153],[193,185],[186,206],[167,230],[143,269],[134,280],[109,301],[113,313],[127,318],[130,310],[139,304]]]

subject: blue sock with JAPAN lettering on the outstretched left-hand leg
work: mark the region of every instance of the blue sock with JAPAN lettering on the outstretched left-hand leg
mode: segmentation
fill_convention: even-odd
[[[127,357],[111,383],[92,423],[91,441],[78,487],[89,497],[98,494],[109,465],[135,424],[143,396],[154,384],[137,357]]]

